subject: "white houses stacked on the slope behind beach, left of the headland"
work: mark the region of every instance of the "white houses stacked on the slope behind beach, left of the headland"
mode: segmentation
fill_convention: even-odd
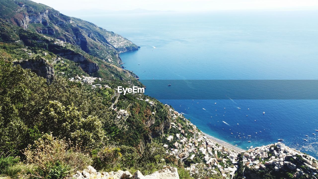
[[[169,107],[168,105],[166,105]],[[169,107],[171,117],[174,122],[171,123],[171,127],[177,128],[180,133],[175,135],[169,135],[166,139],[167,144],[164,144],[166,154],[175,155],[181,160],[194,160],[196,157],[202,157],[201,160],[205,162],[206,170],[212,173],[221,172],[224,178],[232,177],[237,169],[238,164],[238,152],[234,152],[226,147],[218,145],[215,140],[209,139],[202,132],[197,130],[197,127],[190,123],[184,116],[177,111],[174,111]],[[188,133],[184,131],[184,126],[176,122],[176,118],[181,117],[187,125],[187,131],[192,133],[193,137],[189,137]],[[176,140],[173,140],[176,139]],[[170,143],[172,142],[172,143]],[[168,145],[169,144],[169,145]],[[172,148],[169,148],[173,144]],[[224,157],[226,156],[226,157]],[[228,166],[228,162],[231,162],[231,166]],[[196,164],[192,164],[187,170],[190,173],[196,172]],[[217,169],[218,168],[218,171]]]

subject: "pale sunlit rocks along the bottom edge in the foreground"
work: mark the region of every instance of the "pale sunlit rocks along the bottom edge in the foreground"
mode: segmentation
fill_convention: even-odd
[[[73,179],[179,179],[177,168],[163,166],[162,170],[151,175],[142,175],[138,170],[134,175],[128,171],[118,170],[117,172],[97,172],[92,166],[88,166],[82,172],[77,171]]]

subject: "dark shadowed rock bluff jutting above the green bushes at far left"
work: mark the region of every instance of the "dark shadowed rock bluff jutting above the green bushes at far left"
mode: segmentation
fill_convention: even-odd
[[[48,81],[52,82],[54,79],[54,70],[52,65],[44,58],[15,61],[14,64],[20,65],[24,69],[31,69],[32,72],[35,72],[37,75],[46,78]]]

